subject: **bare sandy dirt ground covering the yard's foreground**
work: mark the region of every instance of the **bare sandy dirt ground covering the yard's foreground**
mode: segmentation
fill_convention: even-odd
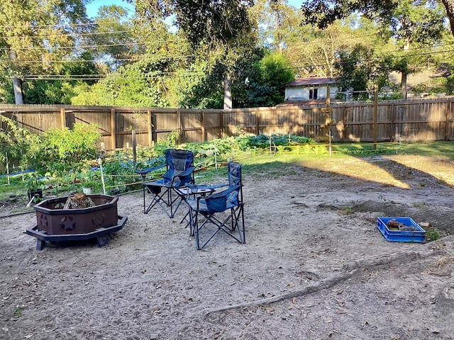
[[[0,339],[454,339],[453,162],[323,159],[243,171],[246,244],[197,251],[140,193],[125,227],[37,251],[33,213],[0,219]],[[4,212],[5,210],[3,210]],[[0,211],[1,213],[2,211]],[[387,242],[377,217],[430,222]]]

